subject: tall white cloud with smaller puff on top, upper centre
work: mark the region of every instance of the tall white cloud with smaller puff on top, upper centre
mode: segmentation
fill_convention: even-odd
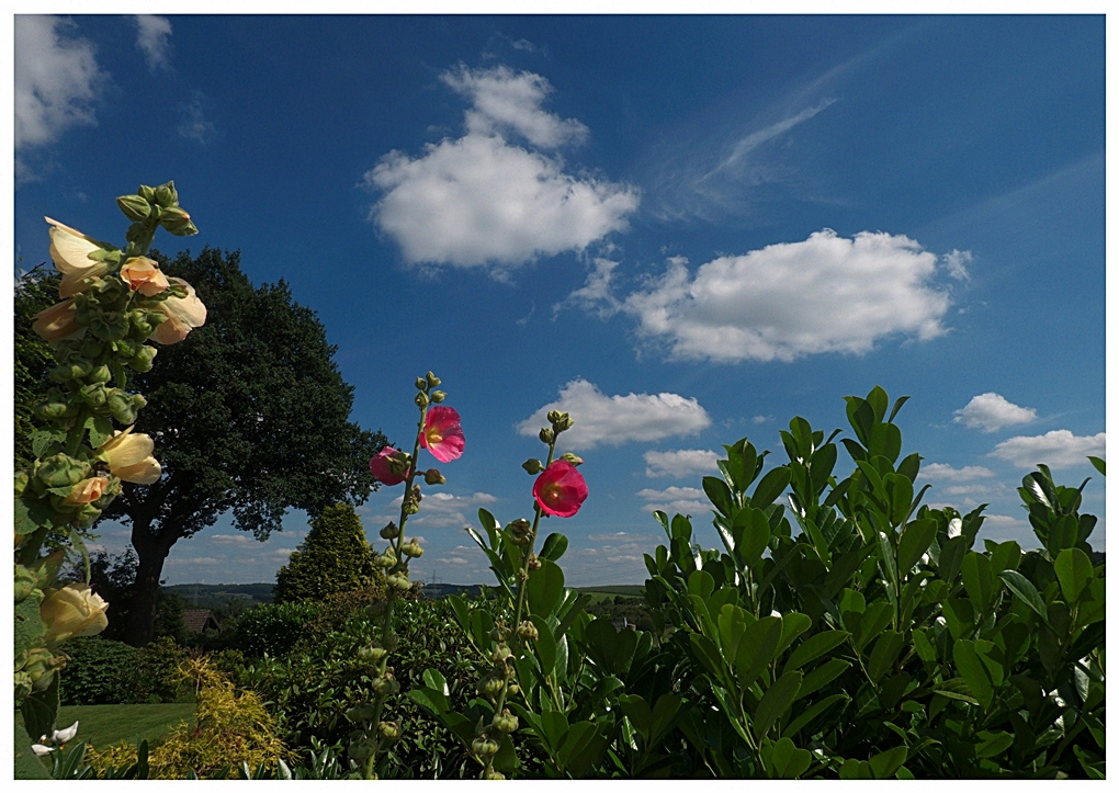
[[[383,193],[369,219],[406,262],[500,274],[627,228],[636,188],[572,174],[562,158],[538,151],[586,138],[579,121],[542,108],[552,89],[544,77],[463,67],[443,82],[472,103],[467,133],[430,143],[416,158],[392,151],[365,174],[365,185]]]

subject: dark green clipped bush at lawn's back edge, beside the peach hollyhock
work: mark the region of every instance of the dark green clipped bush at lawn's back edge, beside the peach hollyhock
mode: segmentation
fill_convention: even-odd
[[[66,643],[69,660],[62,674],[63,705],[125,705],[134,700],[139,650],[100,636]]]

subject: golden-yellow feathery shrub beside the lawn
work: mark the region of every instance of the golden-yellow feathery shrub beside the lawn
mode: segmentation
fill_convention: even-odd
[[[195,687],[197,725],[180,724],[151,749],[148,778],[231,778],[236,766],[262,764],[273,773],[278,761],[290,763],[292,754],[280,739],[272,716],[252,691],[237,691],[206,657],[182,663],[182,673]],[[137,747],[122,743],[104,750],[90,749],[90,762],[98,775],[137,762]]]

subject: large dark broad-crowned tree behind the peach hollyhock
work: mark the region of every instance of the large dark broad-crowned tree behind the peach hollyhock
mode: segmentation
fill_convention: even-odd
[[[225,512],[263,541],[288,509],[313,518],[336,502],[363,503],[375,487],[369,457],[386,443],[349,421],[354,388],[332,360],[337,348],[283,281],[254,289],[239,252],[154,257],[194,285],[208,315],[134,378],[148,398],[137,429],[154,440],[163,474],[125,484],[103,516],[131,526],[139,566],[124,638],[138,646],[152,638],[177,541]]]

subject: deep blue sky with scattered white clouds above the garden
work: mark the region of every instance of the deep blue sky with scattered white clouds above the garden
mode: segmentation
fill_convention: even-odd
[[[414,578],[488,580],[462,527],[529,514],[556,406],[575,585],[643,580],[652,509],[716,546],[720,444],[780,461],[790,418],[845,427],[876,384],[912,397],[927,500],[989,503],[982,536],[1036,545],[1034,462],[1093,476],[1103,517],[1102,16],[21,17],[15,89],[18,266],[43,216],[117,240],[112,199],[175,179],[201,233],[157,246],[285,279],[355,421],[410,445],[412,381],[443,379],[467,449],[410,522]],[[272,580],[305,529],[223,520],[164,575]]]

